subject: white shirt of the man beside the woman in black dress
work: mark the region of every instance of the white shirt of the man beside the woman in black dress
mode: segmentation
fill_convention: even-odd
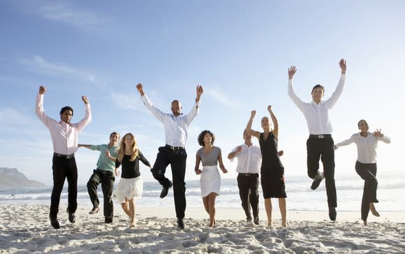
[[[236,150],[237,147],[235,147],[231,153]],[[237,157],[236,172],[251,174],[258,174],[258,172],[260,172],[262,153],[260,147],[256,146],[256,144],[251,144],[250,147],[247,144],[242,144],[242,151],[240,154],[235,154],[235,157]],[[231,158],[230,161],[233,161],[233,158]]]

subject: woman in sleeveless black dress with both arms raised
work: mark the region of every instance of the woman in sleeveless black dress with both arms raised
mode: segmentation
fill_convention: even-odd
[[[259,140],[260,150],[262,152],[262,166],[260,167],[260,181],[263,189],[263,197],[265,198],[265,209],[267,213],[267,226],[272,225],[272,197],[279,199],[279,208],[281,213],[281,225],[287,226],[286,222],[286,185],[284,184],[284,167],[280,157],[282,152],[277,151],[277,142],[279,137],[279,123],[276,116],[272,112],[272,106],[268,106],[267,110],[272,117],[273,128],[268,117],[263,117],[261,124],[263,133],[252,130],[251,126],[253,118],[256,115],[256,110],[251,112],[251,117],[246,126],[246,132],[255,136]]]

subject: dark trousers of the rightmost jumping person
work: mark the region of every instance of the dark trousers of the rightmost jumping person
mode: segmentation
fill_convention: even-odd
[[[369,216],[370,203],[378,203],[377,200],[377,163],[359,163],[356,161],[356,172],[364,179],[364,189],[362,197],[362,220],[366,221]]]

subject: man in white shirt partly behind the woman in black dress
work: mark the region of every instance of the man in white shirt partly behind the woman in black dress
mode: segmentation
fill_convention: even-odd
[[[244,144],[235,147],[228,159],[233,161],[237,158],[237,187],[239,188],[242,208],[246,214],[246,223],[252,222],[251,210],[253,211],[253,223],[259,224],[259,172],[262,160],[260,147],[251,142],[251,135],[243,132]]]

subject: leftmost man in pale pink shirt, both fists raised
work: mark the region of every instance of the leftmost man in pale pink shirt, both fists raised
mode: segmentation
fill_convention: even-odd
[[[91,108],[86,96],[82,96],[86,108],[85,116],[77,124],[71,124],[73,109],[62,107],[60,111],[61,121],[56,121],[45,114],[43,109],[43,97],[46,87],[39,87],[36,97],[35,112],[40,121],[49,129],[52,137],[54,155],[52,158],[52,172],[54,186],[52,188],[50,221],[52,227],[60,228],[57,214],[59,201],[65,179],[68,179],[68,217],[71,223],[75,223],[75,211],[78,208],[78,167],[76,166],[75,152],[78,151],[78,133],[91,121]]]

